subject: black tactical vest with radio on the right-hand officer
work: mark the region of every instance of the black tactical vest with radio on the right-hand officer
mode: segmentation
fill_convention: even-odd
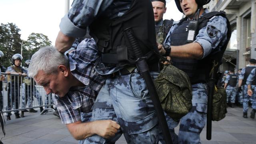
[[[198,35],[199,30],[204,28],[207,25],[207,22],[209,22],[210,18],[212,18],[213,16],[222,16],[226,18],[226,14],[224,12],[209,12],[207,14],[204,14],[198,19],[198,27],[195,32],[195,36]],[[188,74],[188,76],[190,77],[191,84],[207,82],[207,80],[210,77],[209,74],[212,68],[213,60],[217,60],[218,65],[220,65],[223,53],[226,50],[226,46],[231,36],[231,28],[230,28],[228,18],[226,18],[226,20],[227,20],[227,26],[228,26],[227,40],[221,52],[218,52],[214,55],[210,54],[209,56],[207,56],[202,60],[172,58],[172,64]],[[187,37],[188,37],[187,28],[188,28],[189,22],[190,21],[187,20],[187,18],[182,18],[182,20],[180,20],[180,22],[178,23],[178,26],[173,30],[171,34],[171,44],[170,44],[171,46],[181,46],[181,45],[185,45],[193,42],[193,41],[191,42],[187,41]]]

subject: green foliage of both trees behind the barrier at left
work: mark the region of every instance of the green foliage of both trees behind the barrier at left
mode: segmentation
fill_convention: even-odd
[[[19,32],[20,29],[18,26],[13,23],[1,23],[0,25],[0,50],[4,53],[4,57],[1,58],[1,63],[5,67],[12,64],[11,58],[14,54],[21,54],[21,47],[22,63],[24,64],[39,48],[49,46],[52,43],[48,36],[38,33],[31,33],[28,36],[28,40],[22,40]]]

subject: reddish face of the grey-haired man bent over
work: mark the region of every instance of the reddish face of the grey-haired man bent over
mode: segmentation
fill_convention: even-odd
[[[70,89],[67,78],[59,71],[57,74],[46,74],[44,71],[40,70],[34,77],[34,80],[37,84],[44,87],[46,94],[54,93],[63,97]]]

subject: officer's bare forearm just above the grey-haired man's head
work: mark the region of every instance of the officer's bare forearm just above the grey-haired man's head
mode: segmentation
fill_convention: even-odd
[[[74,43],[76,38],[70,37],[70,36],[66,36],[65,34],[63,34],[61,31],[58,33],[58,36],[56,38],[55,41],[55,47],[57,48],[57,50],[59,52],[66,52],[67,50],[69,50],[72,46],[72,44]]]

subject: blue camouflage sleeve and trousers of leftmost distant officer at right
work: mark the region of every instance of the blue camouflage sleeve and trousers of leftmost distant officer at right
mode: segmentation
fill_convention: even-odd
[[[230,73],[230,74],[233,74],[233,73]],[[230,75],[227,75],[224,83],[228,84],[229,80],[230,80]],[[236,102],[236,87],[228,85],[226,87],[226,93],[227,93],[227,103],[229,102],[229,100],[231,103],[235,103]]]

